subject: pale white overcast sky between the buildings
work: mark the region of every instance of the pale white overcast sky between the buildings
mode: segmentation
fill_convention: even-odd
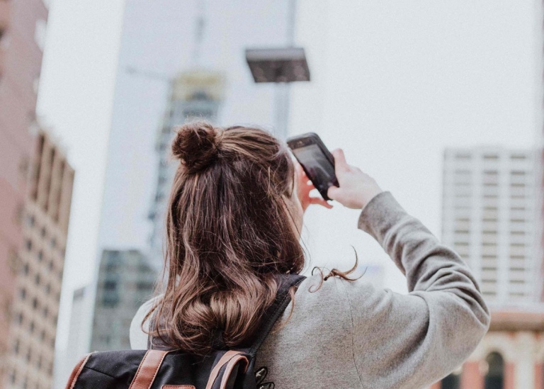
[[[55,0],[50,11],[38,113],[77,171],[61,347],[72,291],[96,266],[123,3]],[[312,82],[293,86],[291,132],[312,130],[329,148],[344,147],[348,162],[437,236],[444,147],[539,139],[540,1],[299,0],[298,9],[296,41]],[[387,287],[402,291],[399,272],[356,219],[340,205],[310,210],[312,261],[348,266],[353,244],[361,261],[386,266]]]

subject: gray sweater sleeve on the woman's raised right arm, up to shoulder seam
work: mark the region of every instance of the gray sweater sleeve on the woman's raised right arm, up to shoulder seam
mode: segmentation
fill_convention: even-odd
[[[372,235],[407,278],[407,295],[360,281],[343,283],[353,323],[353,359],[363,387],[423,388],[470,356],[489,310],[465,262],[388,191],[361,212]],[[370,387],[369,387],[370,388]]]

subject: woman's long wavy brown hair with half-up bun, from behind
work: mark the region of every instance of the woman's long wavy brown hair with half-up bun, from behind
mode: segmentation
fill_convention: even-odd
[[[193,354],[247,341],[271,305],[275,274],[298,273],[304,255],[285,197],[293,163],[282,143],[258,128],[177,130],[180,164],[166,215],[164,297],[152,312],[166,342]]]

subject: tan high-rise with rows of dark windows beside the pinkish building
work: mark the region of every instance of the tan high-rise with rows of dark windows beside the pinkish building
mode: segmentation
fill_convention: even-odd
[[[4,388],[52,385],[74,170],[40,130],[30,163]]]

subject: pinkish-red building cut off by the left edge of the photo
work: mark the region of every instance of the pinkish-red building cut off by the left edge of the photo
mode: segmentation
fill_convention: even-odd
[[[44,0],[0,1],[0,388],[47,25]]]

